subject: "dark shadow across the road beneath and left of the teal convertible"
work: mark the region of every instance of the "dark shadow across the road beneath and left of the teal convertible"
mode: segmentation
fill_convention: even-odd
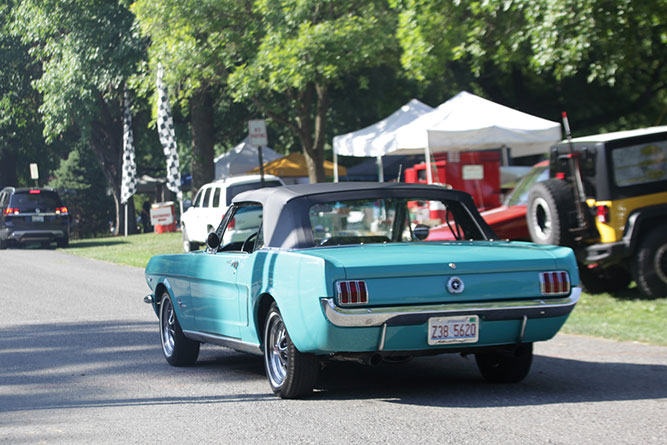
[[[266,393],[258,392],[258,381]],[[378,367],[331,363],[311,400],[502,407],[661,399],[667,397],[665,381],[664,365],[536,356],[522,383],[496,385],[481,378],[472,357],[442,355]],[[220,395],[221,382],[238,385],[238,391]],[[277,400],[265,381],[262,357],[205,346],[195,366],[174,368],[162,356],[157,322],[143,321],[0,328],[0,384],[0,412]],[[172,397],[164,392],[184,386],[193,391],[174,391]]]

